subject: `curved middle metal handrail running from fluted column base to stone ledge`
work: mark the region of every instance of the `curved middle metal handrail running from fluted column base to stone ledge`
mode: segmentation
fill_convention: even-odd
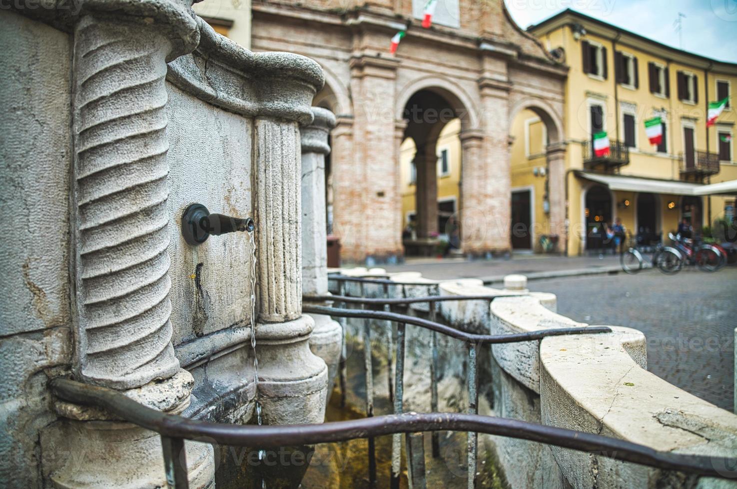
[[[396,323],[411,324],[421,328],[436,331],[437,333],[461,340],[475,345],[498,345],[500,343],[516,343],[524,341],[542,340],[550,336],[564,336],[567,334],[601,334],[611,333],[612,328],[607,326],[592,326],[590,328],[554,328],[528,331],[527,333],[512,334],[474,334],[451,328],[441,323],[423,319],[422,317],[408,316],[397,312],[368,311],[366,309],[337,309],[325,306],[310,306],[304,304],[302,312],[307,314],[325,314],[335,317],[357,317],[362,319],[375,319],[394,321]]]

